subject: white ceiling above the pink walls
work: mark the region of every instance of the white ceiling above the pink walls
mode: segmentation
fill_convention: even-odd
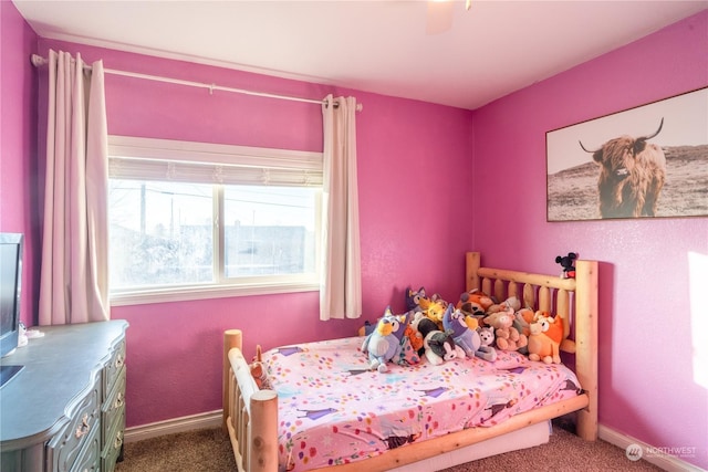
[[[421,0],[13,2],[43,38],[468,109],[708,8],[708,0],[471,0],[469,10]],[[426,32],[428,21],[445,29],[446,20],[444,32]]]

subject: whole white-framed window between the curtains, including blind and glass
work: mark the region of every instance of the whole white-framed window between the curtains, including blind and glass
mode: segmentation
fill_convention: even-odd
[[[316,290],[322,154],[112,136],[114,305]]]

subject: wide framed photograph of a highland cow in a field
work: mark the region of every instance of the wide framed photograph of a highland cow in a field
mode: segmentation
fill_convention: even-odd
[[[708,216],[708,87],[545,134],[546,219]]]

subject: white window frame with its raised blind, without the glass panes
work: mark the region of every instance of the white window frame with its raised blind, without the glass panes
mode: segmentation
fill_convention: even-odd
[[[218,174],[223,166],[227,168],[243,166],[253,170],[259,168],[259,162],[264,162],[264,168],[290,169],[293,174],[302,172],[303,186],[320,189],[315,202],[315,239],[322,237],[322,153],[300,151],[290,149],[260,148],[248,146],[233,146],[197,141],[180,141],[171,139],[140,138],[132,136],[108,136],[108,179],[121,176],[112,176],[111,169],[121,159],[164,161],[170,166],[174,162],[198,162],[200,165],[218,167]],[[114,160],[112,160],[114,159]],[[266,176],[270,176],[264,170]],[[283,178],[279,175],[277,178]],[[288,178],[288,176],[285,176]],[[296,177],[295,177],[296,178]],[[155,180],[145,177],[145,180]],[[169,181],[170,179],[164,179]],[[202,181],[204,183],[204,181]],[[313,292],[320,290],[321,250],[315,243],[315,272],[312,274],[271,275],[254,277],[226,277],[225,228],[220,224],[225,219],[225,185],[211,181],[212,186],[212,234],[214,234],[214,261],[212,269],[216,282],[174,284],[153,289],[124,289],[110,290],[110,303],[112,306],[125,306],[146,303],[180,302],[192,300],[208,300],[219,297],[267,295],[293,292]],[[239,185],[239,183],[237,183]],[[244,183],[254,185],[254,183]],[[262,183],[269,186],[268,181]],[[107,209],[110,211],[110,208]],[[108,251],[110,253],[110,251]]]

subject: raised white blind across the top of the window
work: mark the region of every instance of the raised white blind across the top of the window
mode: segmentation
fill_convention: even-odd
[[[114,179],[322,186],[322,153],[111,136],[108,156]]]

